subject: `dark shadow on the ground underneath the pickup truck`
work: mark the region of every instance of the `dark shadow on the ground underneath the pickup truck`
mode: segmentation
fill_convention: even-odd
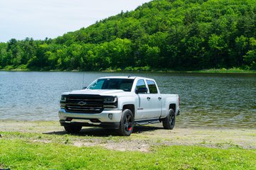
[[[163,129],[161,127],[157,126],[142,126],[142,125],[137,125],[134,127],[133,134],[134,133],[144,133],[144,132],[149,132],[149,131],[154,131],[154,130],[160,130]],[[116,130],[108,130],[104,128],[83,128],[78,134],[70,134],[66,132],[65,130],[63,131],[58,131],[58,132],[46,132],[43,133],[46,135],[76,135],[76,136],[95,136],[95,137],[109,137],[110,135],[112,136],[118,136]]]

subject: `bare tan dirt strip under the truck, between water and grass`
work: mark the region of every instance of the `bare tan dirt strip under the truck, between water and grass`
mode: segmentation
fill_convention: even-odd
[[[58,121],[14,121],[0,120],[1,132],[35,132],[36,134],[65,135]],[[79,135],[71,137],[71,145],[77,147],[100,146],[119,151],[149,152],[150,147],[158,145],[196,145],[204,147],[240,147],[256,149],[256,129],[225,128],[178,128],[164,130],[161,124],[135,126],[130,137],[118,137],[113,130],[102,128],[83,128]],[[53,142],[36,140],[34,142]]]

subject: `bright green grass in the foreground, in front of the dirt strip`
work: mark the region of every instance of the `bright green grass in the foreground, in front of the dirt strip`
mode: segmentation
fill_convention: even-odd
[[[0,169],[256,169],[256,149],[159,145],[150,152],[119,152],[72,144],[90,137],[31,132],[1,135]]]

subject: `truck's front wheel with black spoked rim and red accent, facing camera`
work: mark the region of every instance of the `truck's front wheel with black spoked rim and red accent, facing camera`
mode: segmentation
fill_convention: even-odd
[[[120,121],[119,129],[117,130],[120,136],[129,136],[134,129],[134,116],[132,111],[125,109],[122,112],[122,118]]]

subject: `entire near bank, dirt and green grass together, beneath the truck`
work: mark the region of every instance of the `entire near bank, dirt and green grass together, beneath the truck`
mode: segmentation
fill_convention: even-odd
[[[58,121],[0,120],[0,169],[255,169],[256,130],[136,126],[67,134]]]

